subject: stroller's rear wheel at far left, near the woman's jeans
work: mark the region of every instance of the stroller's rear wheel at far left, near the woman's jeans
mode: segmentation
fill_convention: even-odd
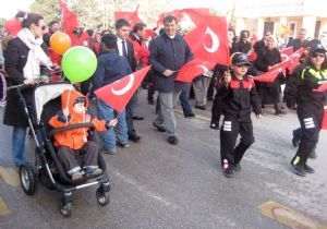
[[[33,195],[36,191],[36,173],[33,166],[29,164],[22,165],[20,167],[20,179],[22,188],[27,195]]]

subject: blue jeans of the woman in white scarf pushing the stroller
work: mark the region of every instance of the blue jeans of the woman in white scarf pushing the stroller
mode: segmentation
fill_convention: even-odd
[[[12,131],[12,152],[15,166],[22,166],[26,161],[25,138],[27,128],[13,128]]]

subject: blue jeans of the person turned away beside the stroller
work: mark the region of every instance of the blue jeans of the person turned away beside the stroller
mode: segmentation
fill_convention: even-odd
[[[98,118],[101,120],[112,120],[116,118],[114,110],[108,104],[101,99],[97,99],[98,104]],[[105,143],[105,149],[109,152],[116,152],[116,138],[121,144],[128,144],[128,124],[125,118],[125,111],[123,110],[118,116],[118,122],[114,128],[110,128],[108,131],[100,132],[100,136]]]

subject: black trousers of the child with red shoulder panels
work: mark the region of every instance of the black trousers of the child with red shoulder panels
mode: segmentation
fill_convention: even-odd
[[[238,135],[241,135],[239,145],[235,147]],[[225,118],[220,129],[220,159],[228,164],[239,164],[245,150],[254,143],[252,122],[240,122]]]

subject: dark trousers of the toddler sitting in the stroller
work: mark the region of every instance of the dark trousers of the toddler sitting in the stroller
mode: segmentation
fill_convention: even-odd
[[[99,145],[96,142],[88,141],[82,148],[72,149],[66,146],[58,148],[58,158],[66,171],[76,167],[98,166]],[[82,165],[78,164],[78,157],[82,157]]]

